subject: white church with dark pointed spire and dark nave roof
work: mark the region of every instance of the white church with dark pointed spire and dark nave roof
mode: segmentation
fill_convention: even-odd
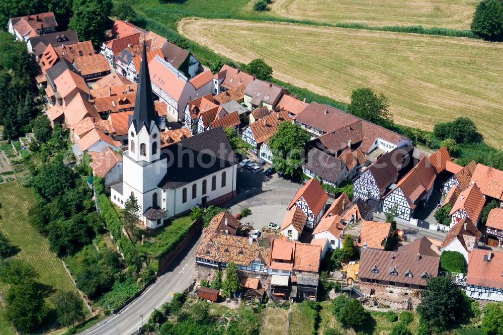
[[[223,204],[236,193],[237,161],[222,127],[160,148],[150,74],[143,46],[134,113],[129,119],[123,182],[111,186],[111,199],[124,208],[138,200],[143,224],[151,229],[193,207]]]

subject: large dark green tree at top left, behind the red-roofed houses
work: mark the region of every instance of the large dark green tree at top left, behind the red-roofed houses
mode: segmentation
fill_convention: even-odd
[[[72,10],[73,16],[68,27],[77,31],[79,39],[91,40],[97,48],[105,36],[112,1],[73,0]]]

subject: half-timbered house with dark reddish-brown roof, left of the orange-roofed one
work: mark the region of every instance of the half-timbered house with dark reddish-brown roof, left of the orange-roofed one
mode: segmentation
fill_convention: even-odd
[[[403,177],[412,167],[413,160],[410,155],[412,149],[412,145],[395,148],[377,158],[355,180],[353,199],[363,199],[380,212],[382,200],[388,193],[389,187],[398,182],[400,177]]]

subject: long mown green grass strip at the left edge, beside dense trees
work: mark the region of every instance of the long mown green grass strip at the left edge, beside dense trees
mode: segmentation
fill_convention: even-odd
[[[55,290],[77,293],[61,260],[49,250],[46,239],[28,221],[28,209],[35,203],[33,190],[16,182],[1,184],[0,203],[0,229],[21,249],[16,257],[30,263],[39,273],[42,283],[51,285]],[[50,299],[48,302],[51,304]]]

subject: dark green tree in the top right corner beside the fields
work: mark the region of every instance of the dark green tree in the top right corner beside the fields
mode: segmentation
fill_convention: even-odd
[[[478,3],[470,29],[485,39],[503,39],[503,1],[482,0]]]

